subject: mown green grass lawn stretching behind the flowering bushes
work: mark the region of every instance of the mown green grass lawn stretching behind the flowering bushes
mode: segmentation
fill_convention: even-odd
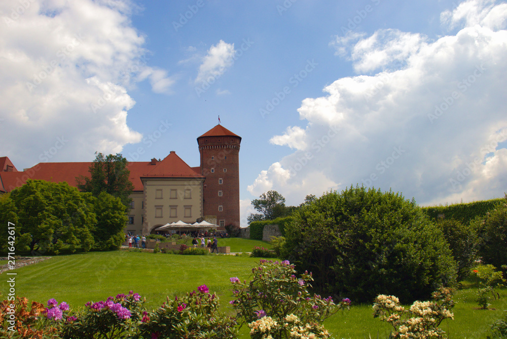
[[[221,239],[222,240],[222,239]],[[227,246],[234,244],[234,239]],[[240,240],[241,241],[241,240]],[[253,245],[255,246],[255,245]],[[253,247],[252,246],[252,247]],[[244,251],[244,249],[243,249]],[[29,300],[46,303],[49,298],[66,301],[73,308],[87,301],[104,300],[108,296],[129,290],[146,296],[147,307],[158,307],[166,295],[184,294],[200,285],[218,293],[221,308],[231,313],[228,301],[232,299],[230,277],[248,279],[251,267],[258,258],[227,255],[184,256],[139,252],[92,252],[55,256],[44,262],[16,269],[16,294]],[[0,291],[8,291],[7,275],[0,280]],[[470,285],[467,285],[470,286]],[[457,291],[454,300],[455,320],[447,321],[442,328],[451,338],[486,338],[489,324],[502,316],[507,309],[507,290],[501,290],[501,299],[491,301],[495,310],[478,310],[475,287]],[[352,304],[350,311],[339,312],[324,326],[336,338],[384,338],[390,328],[372,317],[369,304]],[[248,329],[242,329],[248,337]]]

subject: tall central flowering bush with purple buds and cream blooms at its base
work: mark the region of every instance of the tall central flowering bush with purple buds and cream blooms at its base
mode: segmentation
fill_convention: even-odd
[[[322,322],[350,305],[348,299],[336,305],[331,297],[311,295],[311,273],[297,278],[294,265],[287,260],[279,263],[261,259],[259,266],[252,268],[248,284],[237,277],[230,281],[235,297],[231,304],[242,324],[250,327],[250,336],[256,339],[328,338]]]

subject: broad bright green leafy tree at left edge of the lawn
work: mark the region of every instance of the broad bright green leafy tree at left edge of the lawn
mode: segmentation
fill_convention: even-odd
[[[15,206],[21,236],[29,236],[30,251],[58,253],[63,244],[70,249],[89,250],[93,243],[90,228],[95,215],[81,193],[67,183],[27,180],[14,189],[10,198]],[[28,235],[25,235],[28,234]]]

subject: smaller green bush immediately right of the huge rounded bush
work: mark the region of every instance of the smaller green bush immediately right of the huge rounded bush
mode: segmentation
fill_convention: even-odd
[[[454,219],[440,219],[437,226],[444,233],[452,256],[457,264],[457,280],[462,281],[470,274],[475,265],[479,238],[473,225],[463,224]]]

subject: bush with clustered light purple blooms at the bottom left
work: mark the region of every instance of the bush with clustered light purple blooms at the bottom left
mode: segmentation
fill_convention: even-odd
[[[88,302],[84,311],[66,317],[62,338],[131,337],[136,332],[137,323],[142,320],[143,303],[144,300],[133,291],[127,295],[118,294],[115,298],[110,296],[105,301]]]

